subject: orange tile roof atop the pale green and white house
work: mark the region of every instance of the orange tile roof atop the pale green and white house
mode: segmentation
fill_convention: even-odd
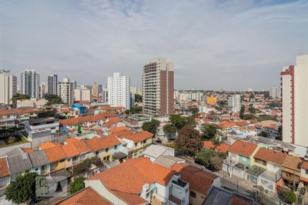
[[[257,145],[246,141],[235,141],[229,148],[229,152],[240,154],[246,157],[251,157],[251,154],[257,149]]]

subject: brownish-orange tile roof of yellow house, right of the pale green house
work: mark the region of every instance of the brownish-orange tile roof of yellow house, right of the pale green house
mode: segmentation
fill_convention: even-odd
[[[255,153],[254,157],[263,161],[269,161],[277,165],[282,165],[283,161],[285,161],[285,157],[287,157],[287,154],[275,152],[274,150],[268,150],[266,148],[260,148],[257,153]]]

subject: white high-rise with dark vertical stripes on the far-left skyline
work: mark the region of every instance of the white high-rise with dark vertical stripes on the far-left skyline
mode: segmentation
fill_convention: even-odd
[[[39,98],[40,74],[35,70],[23,70],[21,72],[21,94],[30,98]]]

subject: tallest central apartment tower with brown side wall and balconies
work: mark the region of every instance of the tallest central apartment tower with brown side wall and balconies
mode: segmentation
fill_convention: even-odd
[[[174,111],[174,64],[160,57],[142,68],[142,108],[151,115],[172,115]]]

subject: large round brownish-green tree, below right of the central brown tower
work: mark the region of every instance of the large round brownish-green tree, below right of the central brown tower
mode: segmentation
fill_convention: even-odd
[[[194,156],[203,146],[200,133],[192,126],[181,128],[175,141],[175,146],[179,152]]]

